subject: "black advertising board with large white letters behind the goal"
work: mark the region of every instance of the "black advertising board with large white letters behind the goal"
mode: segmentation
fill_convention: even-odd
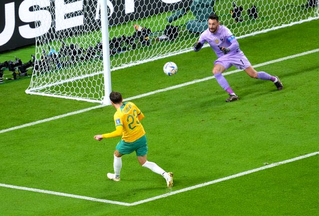
[[[178,0],[175,0],[178,1]],[[40,9],[43,14],[51,14],[51,26],[42,34],[56,38],[56,25],[55,25],[55,4],[57,0],[42,0],[45,6],[33,5],[33,0],[1,0],[0,1],[0,52],[14,49],[17,47],[34,44],[35,36],[32,34],[32,29],[41,25],[43,21],[34,20],[34,11]],[[61,6],[61,0],[59,0]],[[59,35],[71,36],[74,28],[81,28],[85,30],[93,30],[99,26],[100,19],[96,19],[97,13],[97,0],[64,0],[62,7],[70,3],[83,2],[83,9],[64,14],[64,19],[74,16],[83,17],[83,24],[73,27],[68,27],[59,31]],[[108,0],[108,4],[112,4],[112,11],[108,7],[108,11],[112,12],[109,17],[109,25],[115,25],[120,22],[125,22],[132,19],[139,19],[152,14],[160,13],[163,11],[173,10],[179,7],[188,6],[192,0],[181,0],[174,3],[164,3],[162,0],[134,0],[134,12],[126,13],[125,0]],[[90,7],[84,6],[90,5]],[[5,9],[6,8],[6,9]],[[19,13],[20,11],[20,13]],[[82,16],[83,15],[83,16]],[[23,21],[28,20],[28,21]],[[25,28],[21,28],[24,26]],[[9,29],[9,30],[5,30]],[[28,36],[23,36],[29,29]],[[22,32],[21,32],[22,31]],[[21,35],[22,34],[22,35]],[[33,36],[32,36],[33,35]],[[41,36],[41,35],[38,35]],[[27,37],[27,38],[26,38]],[[49,38],[50,38],[49,37]]]

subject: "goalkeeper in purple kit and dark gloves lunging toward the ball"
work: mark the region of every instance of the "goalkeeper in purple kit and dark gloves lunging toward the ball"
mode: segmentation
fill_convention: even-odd
[[[238,100],[239,97],[229,86],[222,72],[232,65],[238,69],[243,69],[252,78],[271,80],[278,90],[283,89],[283,84],[278,76],[272,76],[264,71],[257,72],[248,61],[244,53],[239,49],[239,44],[232,32],[219,23],[218,16],[211,14],[208,17],[208,28],[199,36],[199,40],[194,44],[194,51],[199,51],[207,42],[217,55],[214,61],[213,74],[218,84],[229,94],[226,102]]]

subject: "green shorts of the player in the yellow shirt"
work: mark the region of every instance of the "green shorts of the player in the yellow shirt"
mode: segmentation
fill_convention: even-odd
[[[119,153],[122,155],[127,155],[132,152],[136,152],[136,156],[144,156],[148,153],[148,145],[146,136],[142,136],[138,140],[128,143],[124,140],[121,140],[115,147],[116,150],[119,150]]]

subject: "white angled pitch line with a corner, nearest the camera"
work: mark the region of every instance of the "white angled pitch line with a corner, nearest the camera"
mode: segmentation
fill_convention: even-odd
[[[191,186],[191,187],[188,187],[188,188],[184,188],[184,189],[180,189],[180,190],[177,190],[177,191],[169,192],[169,193],[166,193],[166,194],[162,194],[160,196],[152,197],[152,198],[149,198],[149,199],[146,199],[146,200],[141,200],[141,201],[134,202],[134,203],[124,203],[124,202],[119,202],[119,201],[103,200],[103,199],[97,199],[97,198],[92,198],[92,197],[84,197],[84,196],[79,196],[79,195],[65,194],[65,193],[60,193],[60,192],[46,191],[46,190],[19,187],[19,186],[6,185],[6,184],[0,184],[0,187],[12,188],[12,189],[24,190],[24,191],[32,191],[32,192],[38,192],[38,193],[44,193],[44,194],[51,194],[51,195],[62,196],[62,197],[70,197],[70,198],[88,200],[88,201],[93,201],[93,202],[116,204],[116,205],[121,205],[121,206],[137,206],[137,205],[140,205],[140,204],[143,204],[143,203],[148,203],[148,202],[159,200],[161,198],[165,198],[165,197],[172,196],[172,195],[175,195],[175,194],[180,194],[180,193],[183,193],[183,192],[186,192],[186,191],[194,190],[194,189],[197,189],[197,188],[202,188],[202,187],[205,187],[205,186],[208,186],[208,185],[212,185],[212,184],[216,184],[216,183],[219,183],[219,182],[223,182],[223,181],[227,181],[227,180],[230,180],[230,179],[234,179],[234,178],[237,178],[237,177],[245,176],[245,175],[248,175],[248,174],[251,174],[251,173],[256,173],[258,171],[262,171],[262,170],[266,170],[266,169],[269,169],[269,168],[277,167],[277,166],[282,165],[282,164],[291,163],[291,162],[298,161],[298,160],[305,159],[305,158],[309,158],[309,157],[312,157],[312,156],[315,156],[315,155],[319,155],[319,152],[313,152],[313,153],[310,153],[310,154],[307,154],[307,155],[303,155],[303,156],[300,156],[300,157],[296,157],[296,158],[292,158],[292,159],[289,159],[289,160],[286,160],[286,161],[281,161],[281,162],[270,164],[270,165],[267,165],[267,166],[264,166],[264,167],[256,168],[256,169],[253,169],[253,170],[248,170],[248,171],[245,171],[245,172],[242,172],[242,173],[238,173],[238,174],[235,174],[235,175],[227,176],[227,177],[224,177],[224,178],[221,178],[221,179],[213,180],[213,181],[202,183],[202,184],[199,184],[199,185],[194,185],[194,186]]]

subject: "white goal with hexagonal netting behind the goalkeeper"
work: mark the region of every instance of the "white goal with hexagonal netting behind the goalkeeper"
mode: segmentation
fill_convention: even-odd
[[[29,10],[37,37],[26,93],[99,103],[108,69],[192,50],[212,12],[237,38],[319,18],[317,0],[33,0]]]

